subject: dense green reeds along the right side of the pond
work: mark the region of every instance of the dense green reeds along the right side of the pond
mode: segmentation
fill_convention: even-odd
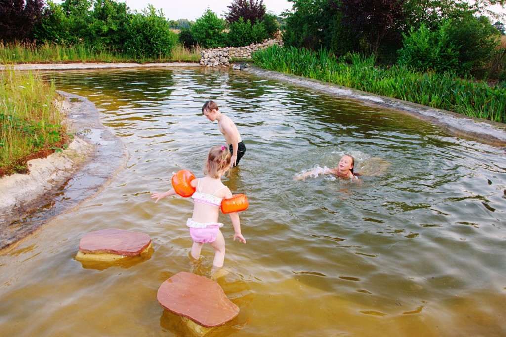
[[[272,46],[253,56],[257,65],[466,116],[506,123],[506,85],[489,86],[448,73],[419,73],[399,66],[375,67],[372,57],[335,58],[327,51]]]

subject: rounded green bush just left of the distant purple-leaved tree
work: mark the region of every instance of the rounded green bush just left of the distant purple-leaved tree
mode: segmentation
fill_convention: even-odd
[[[203,48],[217,48],[225,42],[225,20],[210,9],[199,17],[195,24],[190,27],[190,31],[197,43]]]

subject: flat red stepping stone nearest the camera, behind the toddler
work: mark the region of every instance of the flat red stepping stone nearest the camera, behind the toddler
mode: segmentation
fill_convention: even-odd
[[[156,296],[160,305],[205,327],[223,325],[239,314],[222,287],[206,277],[179,272],[165,280]]]

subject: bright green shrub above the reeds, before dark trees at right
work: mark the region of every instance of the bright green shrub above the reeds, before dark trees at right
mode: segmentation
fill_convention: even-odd
[[[438,72],[457,70],[458,51],[450,38],[451,21],[445,20],[437,31],[422,24],[417,30],[411,28],[404,35],[404,47],[399,50],[399,65],[417,71],[433,69]]]

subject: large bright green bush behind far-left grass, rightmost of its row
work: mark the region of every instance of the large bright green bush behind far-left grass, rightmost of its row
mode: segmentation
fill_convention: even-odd
[[[149,5],[136,13],[127,26],[128,36],[123,51],[136,58],[167,58],[177,41],[161,10]]]

